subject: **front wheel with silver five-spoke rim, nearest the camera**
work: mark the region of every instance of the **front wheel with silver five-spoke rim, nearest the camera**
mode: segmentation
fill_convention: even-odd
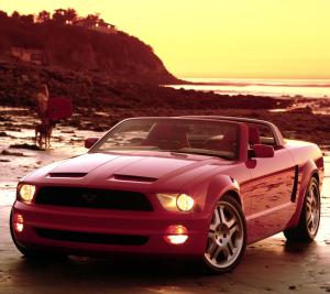
[[[224,195],[216,205],[209,227],[204,264],[209,273],[232,271],[246,248],[246,224],[240,204]]]

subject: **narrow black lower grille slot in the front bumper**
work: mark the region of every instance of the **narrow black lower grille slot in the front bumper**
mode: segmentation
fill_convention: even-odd
[[[36,233],[45,239],[95,244],[143,246],[147,242],[146,236],[108,235],[79,231],[64,231],[35,228]]]

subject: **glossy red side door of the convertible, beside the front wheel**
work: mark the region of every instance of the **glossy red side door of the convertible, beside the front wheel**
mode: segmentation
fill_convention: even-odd
[[[263,138],[263,137],[262,137]],[[261,143],[274,144],[275,140]],[[251,240],[261,240],[282,231],[294,213],[292,193],[295,182],[295,163],[284,146],[274,145],[274,157],[250,157],[251,210],[248,228]]]

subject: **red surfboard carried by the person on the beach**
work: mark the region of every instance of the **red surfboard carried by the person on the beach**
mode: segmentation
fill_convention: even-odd
[[[73,115],[73,104],[68,98],[50,98],[47,117],[53,120],[62,120]]]

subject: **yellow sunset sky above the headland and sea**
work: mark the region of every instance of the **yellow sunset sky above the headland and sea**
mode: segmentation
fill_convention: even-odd
[[[11,13],[101,13],[179,77],[330,78],[329,0],[1,0]]]

